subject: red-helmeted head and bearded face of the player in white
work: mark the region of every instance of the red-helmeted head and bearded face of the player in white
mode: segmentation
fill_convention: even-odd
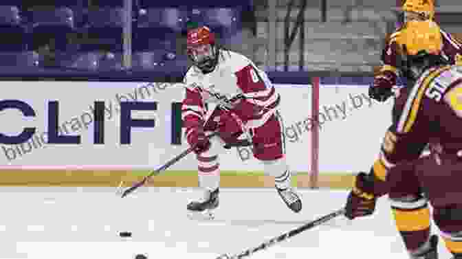
[[[204,73],[213,71],[218,63],[215,36],[206,26],[188,31],[188,57]]]

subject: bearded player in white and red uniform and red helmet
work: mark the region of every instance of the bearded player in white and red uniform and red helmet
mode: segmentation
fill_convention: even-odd
[[[285,159],[285,141],[278,114],[280,96],[265,72],[251,60],[217,46],[208,27],[188,31],[187,50],[194,63],[184,78],[186,95],[182,118],[188,143],[196,146],[199,187],[203,201],[188,204],[189,212],[210,212],[219,205],[219,153],[223,144],[243,135],[253,143],[253,153],[265,173],[275,177],[278,194],[294,212],[302,203],[291,187]],[[208,104],[217,104],[213,111]],[[208,139],[210,132],[219,137]]]

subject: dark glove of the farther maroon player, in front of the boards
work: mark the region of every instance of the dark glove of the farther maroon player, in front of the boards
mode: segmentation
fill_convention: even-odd
[[[396,85],[396,74],[392,71],[383,71],[375,76],[374,84],[369,87],[369,97],[379,102],[385,102],[393,95],[393,87]]]

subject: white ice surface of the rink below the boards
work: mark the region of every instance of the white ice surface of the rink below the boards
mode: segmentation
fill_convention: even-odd
[[[195,188],[140,188],[121,199],[115,188],[1,188],[0,258],[215,259],[260,245],[338,210],[347,192],[299,190],[294,214],[272,188],[221,190],[214,221],[192,221]],[[436,229],[436,227],[434,227]],[[133,232],[121,238],[119,232]],[[450,258],[440,242],[441,257]],[[407,259],[388,201],[369,218],[339,217],[250,258]]]

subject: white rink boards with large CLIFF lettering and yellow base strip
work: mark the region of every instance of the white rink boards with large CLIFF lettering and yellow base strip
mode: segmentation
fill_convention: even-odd
[[[8,124],[2,124],[1,133],[18,135],[29,127],[35,128],[35,134],[23,144],[0,144],[0,184],[117,185],[123,177],[124,181],[136,181],[148,169],[161,166],[187,148],[181,139],[181,84],[3,84],[8,91],[2,94],[2,100],[27,104],[35,116],[25,117],[18,109],[4,109],[0,117]],[[358,170],[369,170],[390,123],[391,103],[372,102],[364,86],[321,86],[320,123],[316,124],[311,119],[311,85],[276,85],[276,89],[282,97],[280,111],[285,124],[287,159],[292,170],[300,174],[294,185],[308,184],[314,127],[320,131],[320,186],[351,185],[350,180],[344,179]],[[104,135],[94,122],[96,102],[104,102]],[[130,113],[132,118],[151,120],[152,125],[130,128],[126,116]],[[377,117],[383,120],[375,120]],[[50,144],[51,124],[57,127],[52,142],[67,143]],[[195,168],[194,156],[188,156],[152,184],[195,186]],[[221,170],[224,186],[274,185],[273,179],[261,173],[263,168],[252,158],[250,148],[234,148],[221,155]]]

